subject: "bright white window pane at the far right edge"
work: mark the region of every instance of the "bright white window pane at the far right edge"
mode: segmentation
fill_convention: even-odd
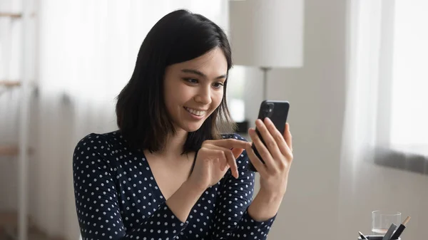
[[[391,147],[428,156],[428,1],[396,0]]]

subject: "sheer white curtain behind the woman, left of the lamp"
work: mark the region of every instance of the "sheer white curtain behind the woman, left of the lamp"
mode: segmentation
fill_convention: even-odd
[[[90,132],[116,130],[115,97],[131,77],[144,36],[163,15],[181,8],[227,31],[227,0],[39,0],[29,205],[49,234],[78,239],[73,147]]]

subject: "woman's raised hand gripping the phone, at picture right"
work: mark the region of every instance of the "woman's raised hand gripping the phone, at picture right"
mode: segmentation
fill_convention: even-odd
[[[252,149],[247,150],[248,157],[260,174],[260,192],[267,196],[280,197],[287,189],[288,173],[292,163],[292,137],[290,125],[285,124],[285,132],[277,130],[269,118],[256,120],[255,125],[265,141],[265,145],[254,129],[250,129],[250,137],[257,148],[263,162]]]

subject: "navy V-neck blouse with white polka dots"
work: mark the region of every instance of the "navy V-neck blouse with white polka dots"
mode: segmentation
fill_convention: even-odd
[[[223,135],[244,140],[239,135]],[[73,155],[76,211],[85,239],[266,239],[275,216],[248,214],[254,173],[244,151],[240,177],[230,170],[200,196],[185,222],[165,204],[143,151],[128,150],[119,132],[91,133]]]

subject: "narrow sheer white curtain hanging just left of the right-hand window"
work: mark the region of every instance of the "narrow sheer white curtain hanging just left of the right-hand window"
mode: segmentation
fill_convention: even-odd
[[[370,158],[375,146],[386,145],[387,142],[383,139],[384,142],[380,143],[377,139],[378,132],[383,136],[387,134],[384,128],[377,128],[377,122],[389,122],[387,115],[390,110],[388,103],[384,104],[383,108],[378,108],[379,101],[383,100],[379,97],[389,91],[391,85],[390,79],[387,79],[383,81],[383,88],[379,87],[382,80],[389,77],[382,75],[382,71],[387,73],[391,69],[387,64],[389,62],[383,61],[382,65],[380,61],[384,56],[382,53],[388,53],[386,46],[381,48],[382,40],[391,40],[391,36],[382,38],[382,29],[386,29],[382,24],[389,24],[382,21],[382,9],[387,9],[386,4],[387,1],[383,0],[350,1],[347,28],[347,98],[342,137],[342,165],[345,163],[350,166],[341,169],[342,174],[346,172],[344,176],[355,176],[355,173],[349,173],[357,172],[358,162]],[[392,4],[388,6],[391,7]],[[387,15],[383,16],[386,19]],[[378,114],[378,111],[382,110],[387,114]]]

